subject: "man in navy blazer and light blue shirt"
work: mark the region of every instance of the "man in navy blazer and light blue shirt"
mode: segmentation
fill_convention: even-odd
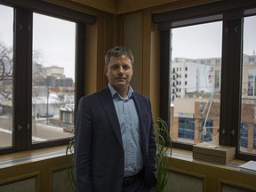
[[[79,101],[75,167],[78,192],[149,192],[156,185],[156,138],[148,98],[133,92],[132,52],[105,56],[108,86]]]

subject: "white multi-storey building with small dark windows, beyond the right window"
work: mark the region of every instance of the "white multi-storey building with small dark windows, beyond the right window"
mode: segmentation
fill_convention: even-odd
[[[220,59],[191,60],[185,58],[175,58],[172,61],[172,92],[171,100],[183,98],[188,93],[194,92],[220,92],[220,84],[214,87],[214,79],[220,79],[219,71]],[[217,73],[216,73],[217,74]]]

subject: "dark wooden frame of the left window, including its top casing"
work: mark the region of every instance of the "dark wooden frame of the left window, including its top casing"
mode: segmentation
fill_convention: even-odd
[[[27,4],[30,2],[31,4]],[[33,12],[76,22],[75,61],[75,113],[78,100],[84,96],[85,28],[96,18],[83,12],[75,12],[54,4],[35,1],[6,0],[3,5],[13,8],[13,132],[12,147],[1,148],[0,155],[35,148],[48,148],[68,143],[69,139],[51,140],[32,144],[32,18]],[[20,29],[22,26],[22,29]],[[26,77],[24,77],[26,76]],[[18,127],[21,127],[19,129]]]

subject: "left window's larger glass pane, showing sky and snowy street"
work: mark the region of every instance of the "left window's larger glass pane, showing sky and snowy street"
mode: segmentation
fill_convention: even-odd
[[[33,14],[32,142],[72,136],[76,23]]]

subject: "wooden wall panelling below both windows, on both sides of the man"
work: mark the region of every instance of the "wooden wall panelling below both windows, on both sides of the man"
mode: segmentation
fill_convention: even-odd
[[[66,156],[47,157],[0,169],[0,191],[71,192]],[[31,157],[33,159],[33,157]],[[236,167],[168,157],[169,178],[165,192],[252,192],[256,175]],[[17,189],[19,188],[19,189]]]

